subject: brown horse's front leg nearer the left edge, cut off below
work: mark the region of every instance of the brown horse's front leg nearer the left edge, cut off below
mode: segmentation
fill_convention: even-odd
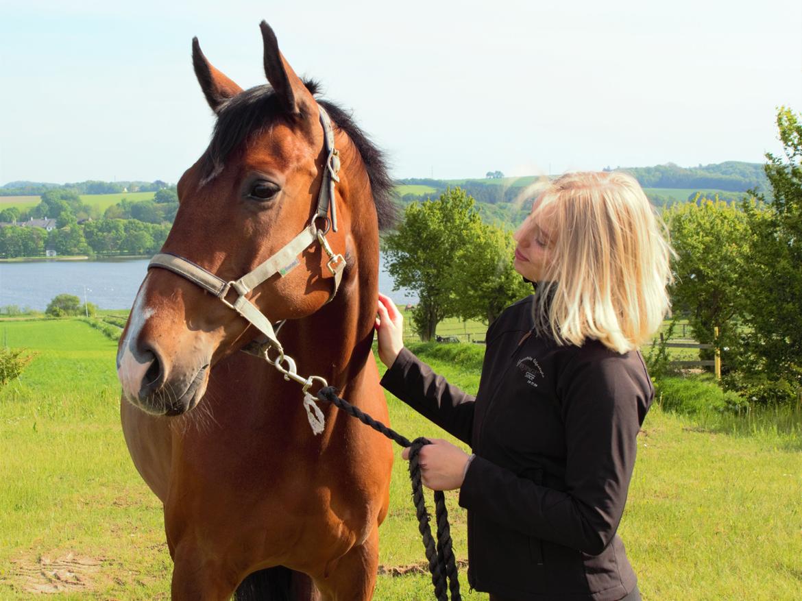
[[[176,546],[172,559],[173,601],[228,601],[239,584],[231,567],[201,553],[201,547],[188,541]]]

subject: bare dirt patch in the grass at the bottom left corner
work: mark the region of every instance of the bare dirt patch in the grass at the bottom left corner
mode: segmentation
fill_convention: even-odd
[[[26,593],[88,592],[94,590],[92,583],[103,562],[103,558],[74,553],[15,559],[11,562],[9,580]]]

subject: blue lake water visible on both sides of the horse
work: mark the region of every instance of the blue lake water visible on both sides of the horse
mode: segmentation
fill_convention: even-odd
[[[383,256],[379,267],[379,291],[397,304],[418,302],[415,292],[393,291]],[[81,302],[86,297],[100,309],[130,309],[147,268],[144,259],[0,263],[0,307],[18,305],[44,311],[54,296],[67,293]]]

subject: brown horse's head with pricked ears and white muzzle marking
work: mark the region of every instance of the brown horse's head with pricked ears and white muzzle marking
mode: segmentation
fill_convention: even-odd
[[[265,22],[261,30],[270,85],[247,91],[192,42],[195,72],[217,125],[204,155],[180,178],[176,219],[136,296],[117,353],[124,397],[148,413],[192,409],[222,357],[253,341],[260,329],[269,337],[269,321],[306,317],[325,305],[342,273],[342,256],[354,252],[354,228],[376,227],[374,203],[354,199],[366,192],[370,199],[371,184],[374,192],[389,184],[383,168],[375,181],[369,163],[383,167],[381,157],[360,155],[360,141],[367,139],[353,127],[350,136],[337,131],[343,168],[336,190],[329,188],[330,179],[338,179],[339,159],[331,153],[333,130],[326,139],[329,118],[314,87],[279,52],[273,30]],[[335,120],[348,119],[325,106]],[[269,321],[241,317],[252,308]]]

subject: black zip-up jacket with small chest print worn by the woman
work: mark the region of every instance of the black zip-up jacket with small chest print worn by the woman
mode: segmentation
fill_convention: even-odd
[[[382,385],[476,454],[460,489],[468,583],[511,599],[617,601],[635,587],[615,534],[654,397],[637,351],[533,334],[533,296],[492,323],[476,398],[403,349]]]

